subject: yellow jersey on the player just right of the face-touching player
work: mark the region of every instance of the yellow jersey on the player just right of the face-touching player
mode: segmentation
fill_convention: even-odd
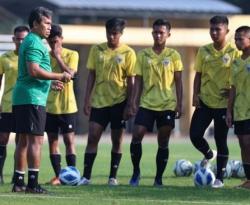
[[[87,62],[87,68],[96,73],[92,107],[112,106],[126,99],[127,77],[134,76],[135,61],[134,50],[125,44],[114,50],[107,43],[92,46]]]

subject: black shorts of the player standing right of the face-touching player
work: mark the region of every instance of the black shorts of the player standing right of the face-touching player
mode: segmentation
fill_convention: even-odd
[[[126,102],[123,101],[110,107],[92,107],[89,121],[100,124],[104,129],[107,127],[109,122],[111,129],[125,128],[126,123],[123,120],[123,112],[125,106]]]

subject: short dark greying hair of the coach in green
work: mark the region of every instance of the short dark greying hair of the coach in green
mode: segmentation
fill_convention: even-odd
[[[34,8],[30,12],[30,16],[29,16],[30,28],[33,28],[34,21],[36,21],[37,23],[40,23],[42,21],[43,16],[50,18],[52,16],[52,11],[42,6]]]

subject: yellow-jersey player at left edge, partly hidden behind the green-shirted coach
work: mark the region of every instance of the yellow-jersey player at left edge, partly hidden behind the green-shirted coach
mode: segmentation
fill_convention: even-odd
[[[0,117],[0,184],[4,183],[3,167],[6,159],[6,145],[9,141],[10,132],[15,132],[12,114],[12,90],[17,79],[18,49],[28,33],[28,27],[16,27],[14,29],[14,36],[12,37],[15,50],[8,51],[0,57],[0,86],[4,89]],[[5,77],[4,84],[2,82],[3,75]],[[17,138],[18,136],[16,140]]]

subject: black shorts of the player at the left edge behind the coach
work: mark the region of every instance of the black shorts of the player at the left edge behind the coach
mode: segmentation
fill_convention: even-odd
[[[15,132],[15,119],[13,113],[0,113],[0,132]]]

